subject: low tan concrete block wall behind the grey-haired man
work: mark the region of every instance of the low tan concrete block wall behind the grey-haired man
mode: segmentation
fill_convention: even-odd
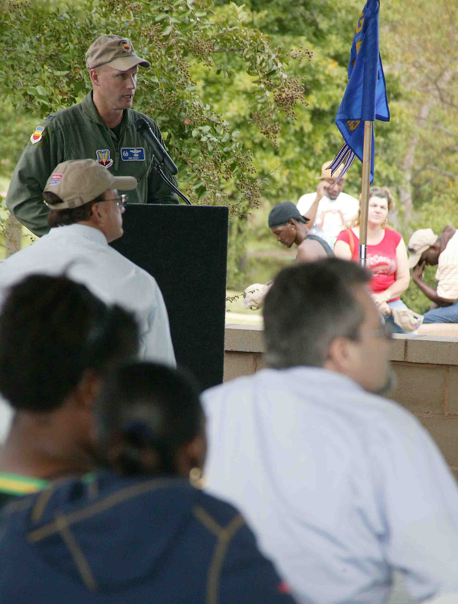
[[[224,381],[264,367],[263,327],[227,325]],[[397,385],[387,396],[427,428],[458,479],[458,338],[393,336]]]

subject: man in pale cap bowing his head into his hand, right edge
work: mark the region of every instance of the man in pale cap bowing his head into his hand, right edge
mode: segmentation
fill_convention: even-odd
[[[435,306],[424,323],[458,323],[458,233],[447,225],[439,237],[431,228],[415,231],[408,242],[413,282]],[[437,266],[437,289],[423,280],[425,266]]]

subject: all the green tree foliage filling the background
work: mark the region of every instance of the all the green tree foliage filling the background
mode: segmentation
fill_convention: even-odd
[[[240,286],[247,237],[250,245],[256,238],[274,246],[265,225],[269,208],[314,191],[321,164],[341,146],[334,119],[363,4],[74,0],[67,7],[63,0],[4,0],[0,125],[8,112],[19,124],[15,135],[5,132],[11,152],[0,170],[11,171],[22,147],[18,127],[30,126],[27,114],[42,117],[82,98],[89,88],[86,48],[123,24],[138,53],[153,57],[152,69],[141,71],[135,106],[160,124],[181,187],[194,202],[231,208],[229,281]],[[392,120],[375,125],[374,184],[389,186],[398,199],[392,222],[407,242],[415,228],[432,226],[439,234],[447,222],[458,225],[458,11],[450,0],[406,7],[402,0],[381,2]],[[346,191],[358,196],[360,187],[355,162]],[[433,275],[431,269],[431,282]],[[417,310],[428,304],[412,286],[403,298]]]

